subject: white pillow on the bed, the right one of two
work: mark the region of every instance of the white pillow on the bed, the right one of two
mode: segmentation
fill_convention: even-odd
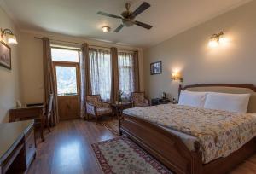
[[[211,92],[207,94],[205,108],[247,113],[250,94],[227,94]]]

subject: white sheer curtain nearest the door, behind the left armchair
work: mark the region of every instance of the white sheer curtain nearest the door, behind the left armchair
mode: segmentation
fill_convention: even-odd
[[[89,49],[90,84],[93,95],[100,94],[102,100],[110,100],[111,56],[109,50]]]

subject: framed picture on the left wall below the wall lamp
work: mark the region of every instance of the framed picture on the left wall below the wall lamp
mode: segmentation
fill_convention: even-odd
[[[11,69],[11,49],[2,41],[0,42],[0,66]]]

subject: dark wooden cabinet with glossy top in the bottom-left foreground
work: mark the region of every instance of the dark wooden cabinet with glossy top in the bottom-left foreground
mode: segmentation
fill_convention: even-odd
[[[36,156],[34,121],[0,124],[0,174],[26,171]]]

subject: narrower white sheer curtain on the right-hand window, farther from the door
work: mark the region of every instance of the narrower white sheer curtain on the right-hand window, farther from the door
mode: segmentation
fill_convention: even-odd
[[[134,81],[134,53],[119,52],[119,90],[124,92],[122,98],[131,99],[131,92],[135,89]]]

